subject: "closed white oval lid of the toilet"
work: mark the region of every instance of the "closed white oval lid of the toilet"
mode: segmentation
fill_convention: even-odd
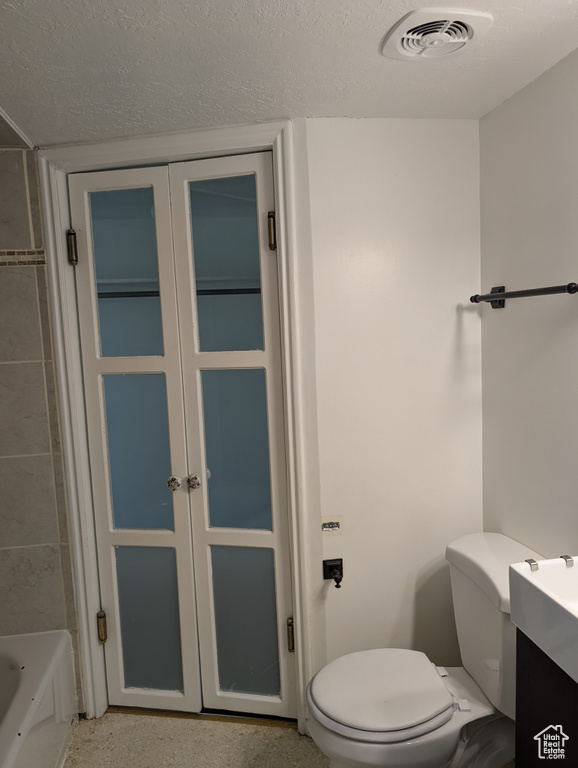
[[[364,731],[413,728],[453,710],[453,698],[419,651],[378,648],[341,656],[311,681],[311,698],[327,717]]]

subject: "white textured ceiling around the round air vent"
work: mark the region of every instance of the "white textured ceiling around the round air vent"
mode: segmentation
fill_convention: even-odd
[[[0,107],[39,146],[286,117],[481,117],[578,46],[578,0],[472,0],[463,56],[384,58],[431,0],[0,0]],[[451,5],[451,3],[449,4]]]

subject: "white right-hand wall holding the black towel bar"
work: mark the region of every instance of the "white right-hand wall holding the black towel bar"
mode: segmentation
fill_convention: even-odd
[[[578,51],[481,121],[482,285],[578,281]],[[578,551],[578,297],[484,307],[484,522]]]

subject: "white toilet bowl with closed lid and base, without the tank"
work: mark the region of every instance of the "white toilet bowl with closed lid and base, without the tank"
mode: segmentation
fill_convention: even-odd
[[[512,721],[463,667],[435,667],[419,651],[342,656],[310,682],[307,706],[331,768],[502,768],[513,757]]]

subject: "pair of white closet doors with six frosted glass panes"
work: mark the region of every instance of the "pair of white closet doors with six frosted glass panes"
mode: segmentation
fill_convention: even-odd
[[[293,717],[271,155],[69,183],[109,701]]]

